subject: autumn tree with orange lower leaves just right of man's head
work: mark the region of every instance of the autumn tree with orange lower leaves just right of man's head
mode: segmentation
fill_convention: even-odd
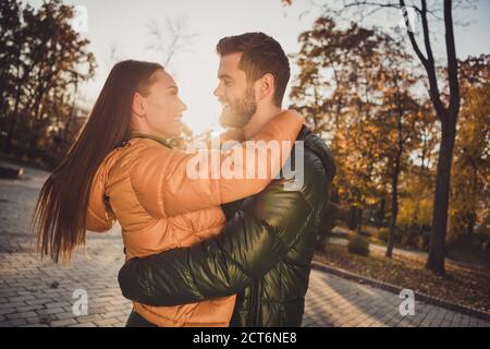
[[[362,230],[363,209],[379,196],[376,182],[377,129],[373,91],[381,56],[377,36],[355,24],[340,29],[328,16],[301,34],[301,68],[291,92],[314,132],[331,139],[338,161],[338,195],[351,205],[351,227]]]

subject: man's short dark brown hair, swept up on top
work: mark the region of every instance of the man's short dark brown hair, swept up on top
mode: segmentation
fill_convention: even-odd
[[[238,68],[250,82],[256,82],[265,74],[274,76],[274,104],[281,107],[282,98],[290,80],[291,70],[284,50],[271,36],[264,33],[245,33],[226,36],[216,46],[221,57],[230,53],[243,53]]]

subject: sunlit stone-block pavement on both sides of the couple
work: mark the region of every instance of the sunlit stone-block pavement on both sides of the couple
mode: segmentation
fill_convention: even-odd
[[[27,231],[46,173],[25,170],[26,179],[0,180],[0,326],[124,326],[131,302],[117,281],[123,264],[118,228],[88,233],[85,250],[70,265],[40,261]],[[77,290],[86,292],[87,315],[73,313]],[[303,325],[490,327],[417,300],[415,315],[402,316],[401,302],[397,294],[314,269]]]

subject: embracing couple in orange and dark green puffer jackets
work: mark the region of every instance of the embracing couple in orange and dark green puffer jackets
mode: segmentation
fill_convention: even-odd
[[[127,326],[302,324],[335,166],[303,116],[281,109],[290,64],[277,40],[246,33],[222,38],[217,52],[226,129],[218,144],[232,148],[176,146],[186,106],[175,81],[158,63],[122,61],[39,193],[38,245],[56,262],[86,230],[120,224]],[[210,156],[191,176],[203,152]],[[217,176],[213,158],[244,176]]]

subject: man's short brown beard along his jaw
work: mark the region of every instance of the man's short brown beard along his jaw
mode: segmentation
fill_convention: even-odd
[[[250,121],[252,117],[257,111],[253,86],[247,87],[243,98],[226,101],[230,107],[226,109],[223,108],[220,117],[220,124],[223,128],[241,129]]]

